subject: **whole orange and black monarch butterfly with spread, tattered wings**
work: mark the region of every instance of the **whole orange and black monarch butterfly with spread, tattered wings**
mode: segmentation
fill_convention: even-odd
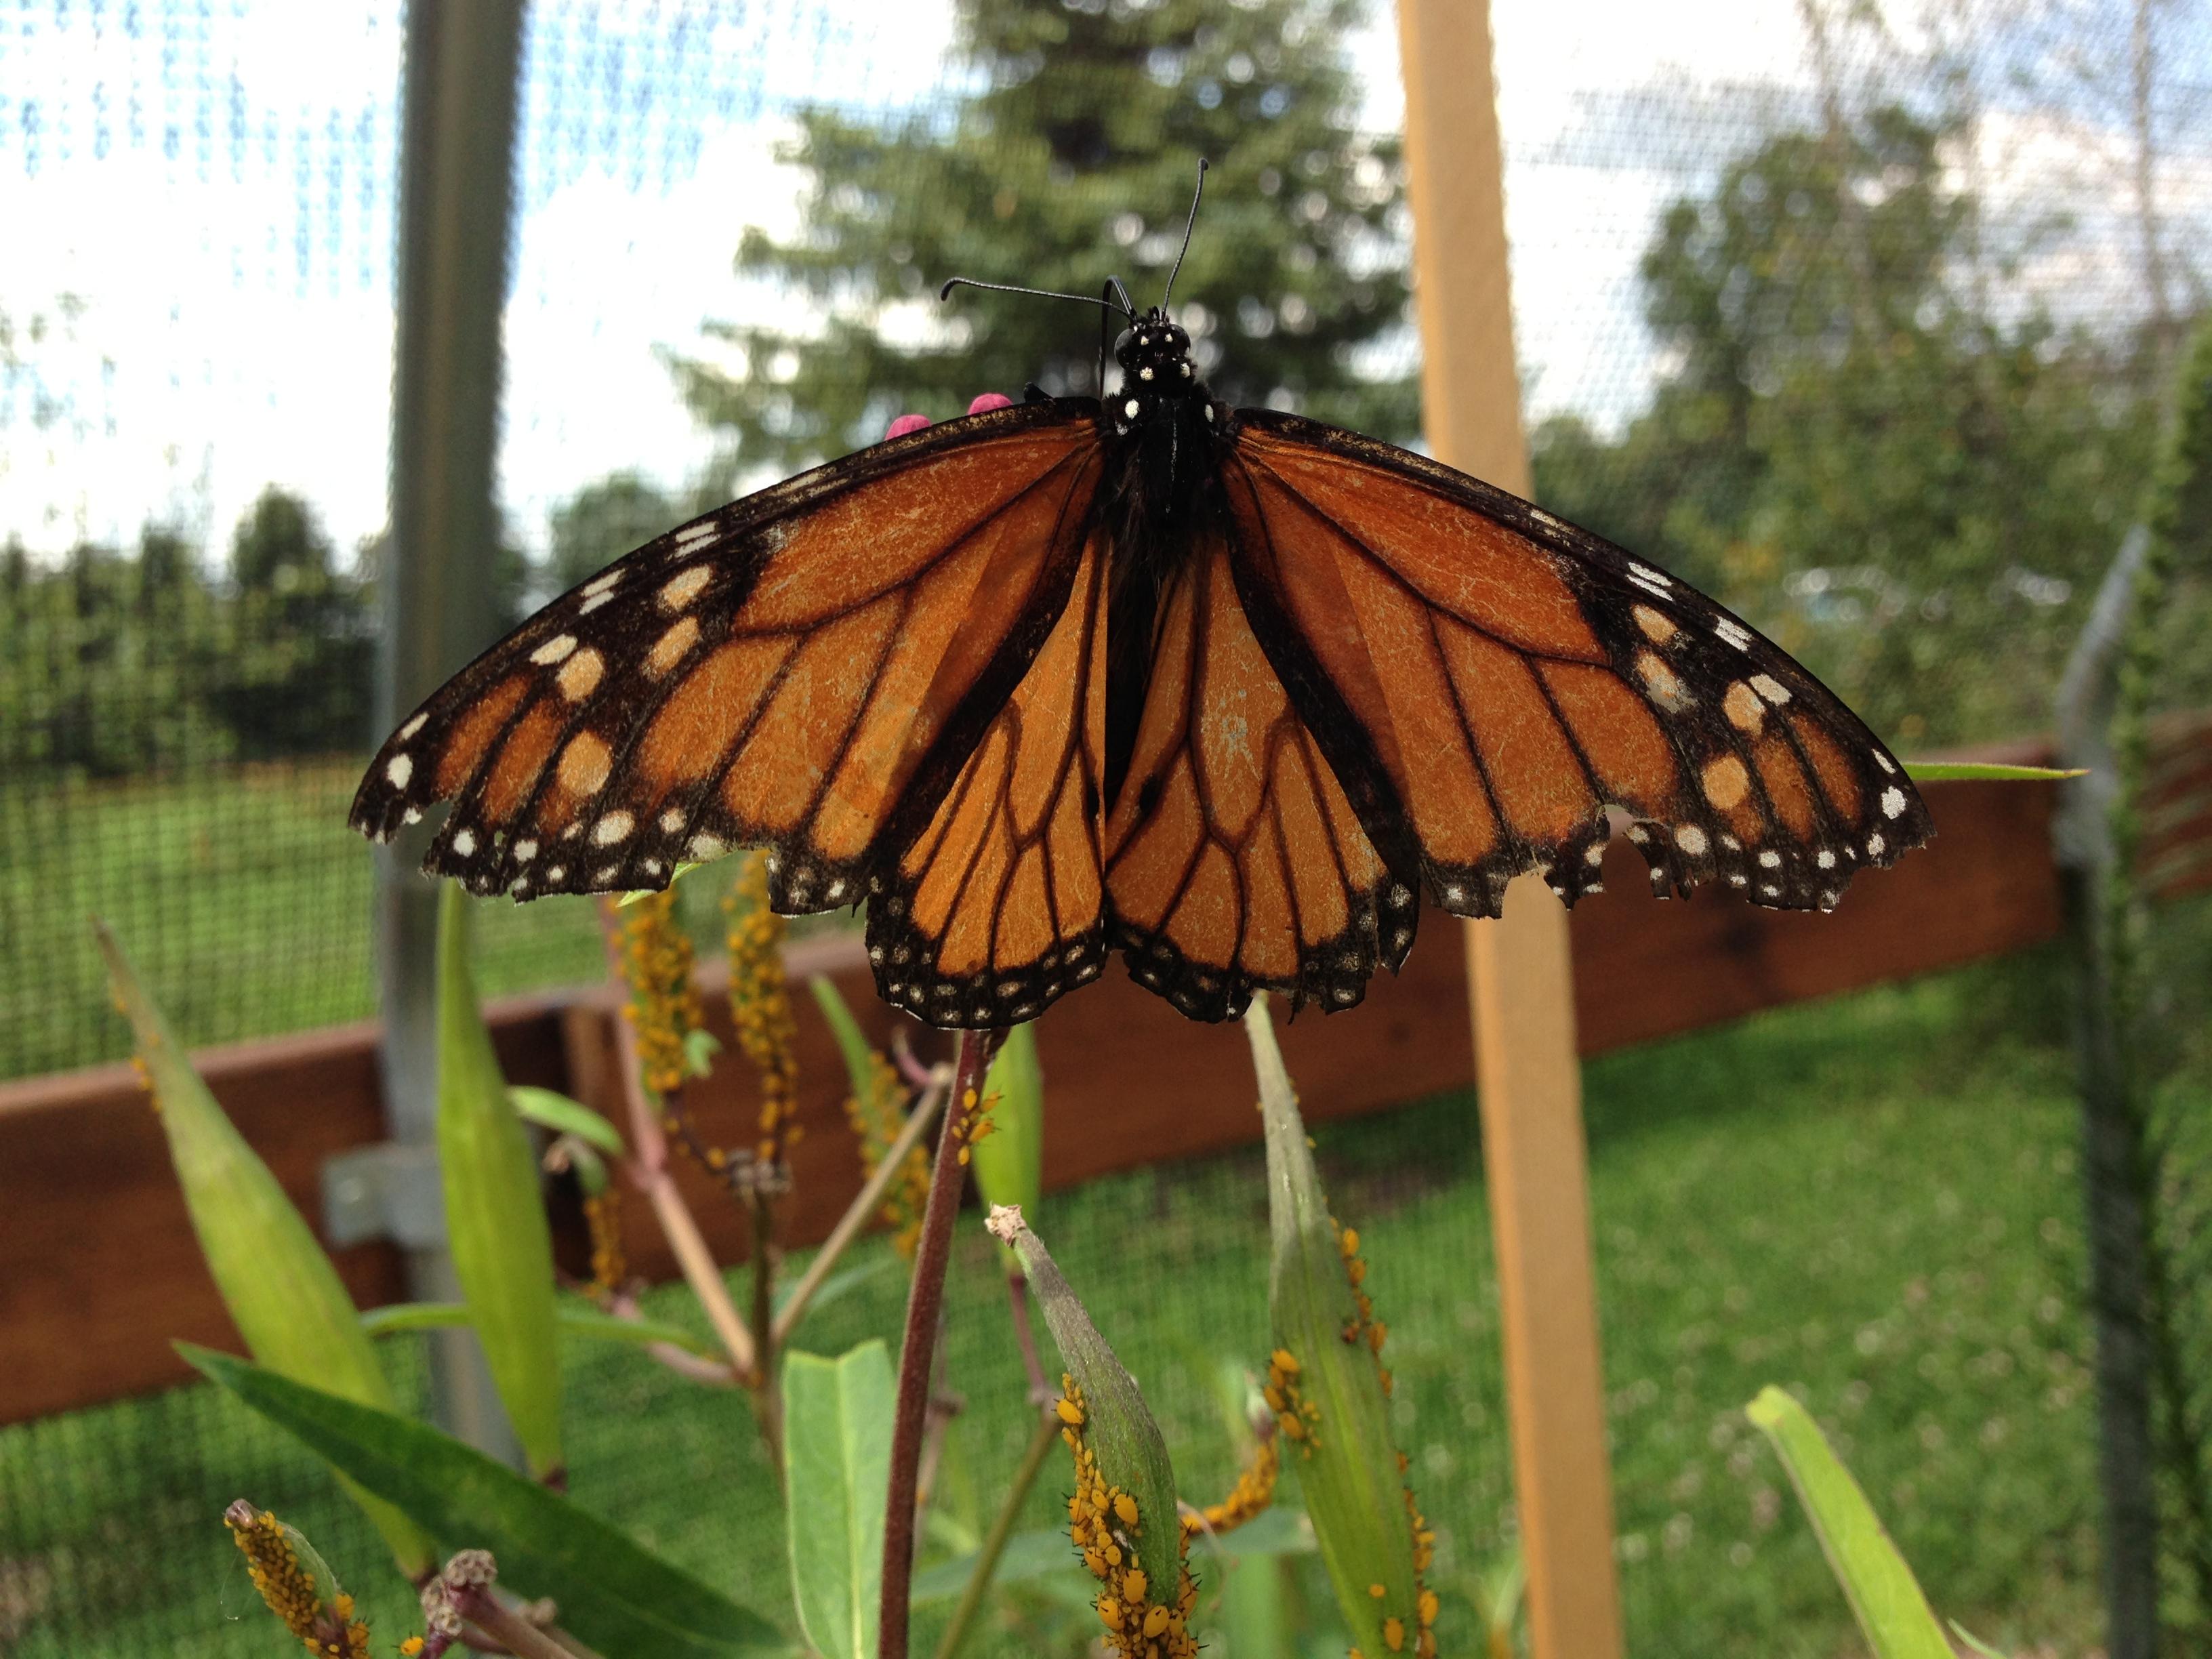
[[[1425,898],[1597,891],[1610,812],[1659,894],[1778,909],[1929,838],[1896,759],[1721,606],[1451,467],[1217,403],[1166,294],[1106,292],[1110,396],[1102,349],[1097,398],[648,542],[409,714],[354,827],[453,801],[425,869],[518,900],[768,847],[774,909],[865,900],[878,989],[947,1029],[1031,1020],[1108,951],[1197,1020],[1259,987],[1345,1009]]]

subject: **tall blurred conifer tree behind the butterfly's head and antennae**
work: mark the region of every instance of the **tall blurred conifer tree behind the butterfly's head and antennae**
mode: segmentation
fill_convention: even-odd
[[[814,175],[807,230],[748,228],[739,272],[801,290],[818,327],[710,323],[734,372],[677,372],[737,467],[794,467],[975,392],[1091,392],[1097,316],[1060,301],[956,294],[947,276],[1095,294],[1119,272],[1159,301],[1197,161],[1206,208],[1177,316],[1230,403],[1274,403],[1394,438],[1411,378],[1365,347],[1405,327],[1398,144],[1358,133],[1343,35],[1356,0],[960,0],[975,91],[896,126],[801,115],[787,159]]]

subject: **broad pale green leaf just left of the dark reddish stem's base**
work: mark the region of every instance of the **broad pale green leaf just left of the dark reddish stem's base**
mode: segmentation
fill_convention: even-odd
[[[792,1599],[825,1659],[876,1652],[896,1394],[880,1340],[836,1360],[796,1352],[783,1360]]]

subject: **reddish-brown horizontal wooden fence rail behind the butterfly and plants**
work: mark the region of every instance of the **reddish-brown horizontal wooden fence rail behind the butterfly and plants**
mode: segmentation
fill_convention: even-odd
[[[2015,745],[1984,759],[2035,759]],[[1834,916],[1785,916],[1728,894],[1655,902],[1641,860],[1615,841],[1608,891],[1573,914],[1582,1053],[1730,1020],[1754,1009],[1902,978],[2051,938],[2059,929],[2051,867],[2051,785],[1953,783],[1931,792],[1938,838],[1860,880]],[[856,940],[794,945],[792,969],[827,973],[878,1040],[894,1020],[874,995]],[[728,1037],[728,1011],[708,998]],[[818,1241],[858,1190],[843,1119],[843,1066],[812,1002],[801,1009],[801,1121],[790,1243]],[[606,1073],[617,1002],[606,989],[513,998],[493,1006],[513,1082],[615,1106]],[[918,1040],[929,1040],[907,1026]],[[374,1024],[210,1048],[201,1073],[248,1141],[310,1219],[321,1168],[383,1139]],[[1256,1139],[1241,1033],[1199,1026],[1113,978],[1057,1004],[1040,1024],[1046,1068],[1048,1186]],[[1310,1115],[1394,1106],[1473,1077],[1467,969],[1458,929],[1431,916],[1396,980],[1363,1009],[1285,1031]],[[697,1091],[706,1121],[748,1110],[743,1066]],[[1475,1133],[1473,1113],[1467,1133]],[[743,1230],[697,1172],[692,1201],[723,1261]],[[628,1206],[630,1261],[653,1279],[672,1263],[644,1206]],[[582,1270],[577,1217],[560,1245]],[[387,1245],[336,1252],[363,1305],[403,1298]],[[0,1086],[0,1422],[66,1411],[184,1378],[170,1338],[237,1345],[195,1248],[159,1126],[128,1066]]]

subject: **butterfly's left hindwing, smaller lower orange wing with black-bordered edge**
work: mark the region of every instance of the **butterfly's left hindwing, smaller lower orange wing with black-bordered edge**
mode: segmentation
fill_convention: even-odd
[[[927,832],[869,876],[883,995],[933,1026],[1006,1026],[1095,980],[1106,958],[1099,803],[1106,752],[1106,540],[1029,675]]]

